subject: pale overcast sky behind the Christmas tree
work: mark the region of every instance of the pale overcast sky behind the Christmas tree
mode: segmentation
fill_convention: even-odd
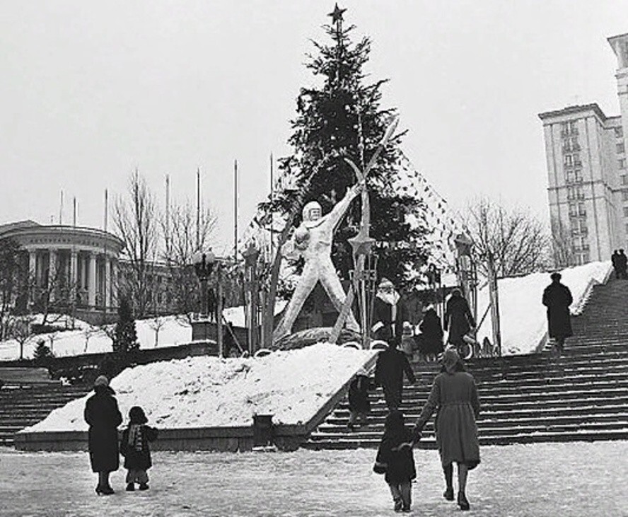
[[[606,38],[628,32],[628,2],[349,0],[367,71],[388,78],[403,150],[454,208],[475,194],[547,219],[539,112],[597,102],[619,113]],[[160,202],[203,198],[233,239],[269,190],[269,154],[286,139],[310,38],[332,1],[0,0],[0,223],[103,226],[104,191],[134,168]]]

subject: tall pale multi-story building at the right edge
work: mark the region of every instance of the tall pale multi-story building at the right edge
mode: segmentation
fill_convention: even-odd
[[[539,115],[554,251],[566,265],[628,248],[628,34],[608,41],[617,55],[621,114],[607,117],[593,103]]]

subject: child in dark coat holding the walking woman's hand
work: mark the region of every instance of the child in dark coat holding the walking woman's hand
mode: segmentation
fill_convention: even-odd
[[[417,477],[412,455],[412,432],[406,429],[403,414],[392,409],[386,417],[384,436],[373,470],[385,474],[395,511],[409,512],[412,505],[412,480]]]

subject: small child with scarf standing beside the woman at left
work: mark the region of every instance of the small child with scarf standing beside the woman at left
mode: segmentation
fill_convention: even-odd
[[[135,489],[139,483],[140,490],[149,489],[149,475],[146,470],[153,465],[149,441],[157,438],[157,429],[147,426],[144,409],[134,406],[129,411],[129,426],[122,431],[120,453],[124,456],[124,468],[127,472],[127,492]]]

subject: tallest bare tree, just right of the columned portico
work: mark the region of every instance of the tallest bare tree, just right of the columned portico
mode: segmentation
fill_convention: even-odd
[[[128,197],[120,197],[115,203],[113,221],[117,236],[124,243],[123,256],[129,262],[120,288],[132,301],[138,318],[149,310],[149,271],[157,257],[159,230],[156,211],[146,180],[135,170],[129,178]]]

